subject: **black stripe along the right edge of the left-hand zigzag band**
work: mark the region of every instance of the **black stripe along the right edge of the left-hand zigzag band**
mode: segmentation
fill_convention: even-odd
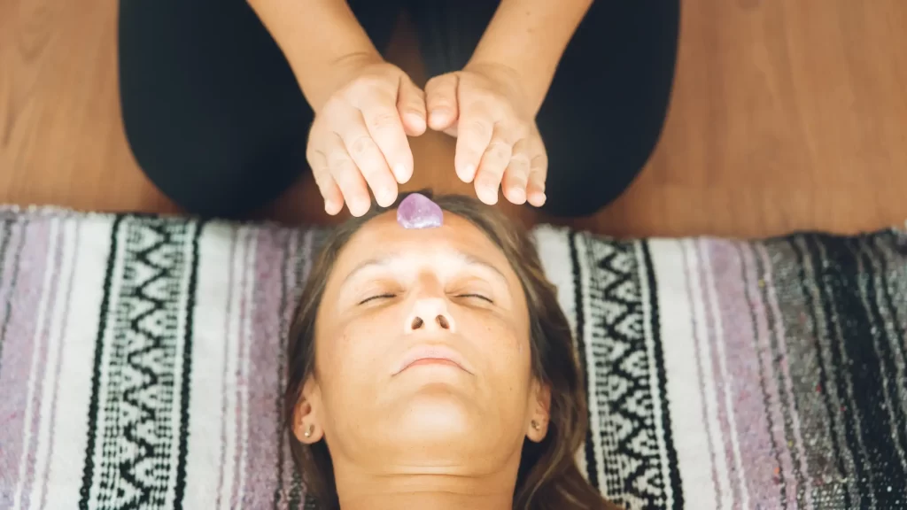
[[[189,277],[189,296],[186,299],[186,338],[182,350],[182,387],[180,388],[180,453],[176,466],[176,487],[173,507],[182,508],[186,491],[186,456],[189,453],[189,407],[192,377],[192,340],[195,326],[195,301],[199,287],[199,240],[206,221],[197,221],[192,236],[192,266]]]

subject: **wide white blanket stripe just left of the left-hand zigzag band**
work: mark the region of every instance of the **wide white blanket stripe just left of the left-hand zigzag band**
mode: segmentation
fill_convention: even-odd
[[[82,488],[85,448],[88,439],[88,410],[92,397],[94,348],[103,300],[104,276],[111,249],[112,218],[93,216],[80,221],[79,244],[74,247],[73,296],[63,332],[60,387],[54,425],[54,448],[45,508],[69,508],[79,501]],[[98,448],[101,445],[97,445]]]

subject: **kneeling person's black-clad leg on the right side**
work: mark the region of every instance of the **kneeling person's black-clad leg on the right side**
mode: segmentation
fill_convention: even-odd
[[[410,1],[430,75],[463,68],[497,5]],[[599,211],[649,160],[668,111],[679,8],[679,0],[592,3],[536,118],[549,159],[545,211]]]

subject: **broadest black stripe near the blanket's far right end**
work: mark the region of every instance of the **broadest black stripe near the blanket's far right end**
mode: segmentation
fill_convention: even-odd
[[[849,309],[853,312],[849,314],[853,320],[845,321],[853,329],[853,335],[845,336],[844,346],[848,348],[850,358],[854,361],[850,365],[853,373],[853,380],[858,384],[854,385],[854,402],[857,407],[856,411],[862,415],[861,431],[863,432],[863,445],[865,446],[868,464],[871,473],[876,478],[874,482],[873,495],[881,507],[890,507],[895,505],[895,501],[907,494],[907,480],[905,480],[902,469],[898,473],[894,472],[895,466],[901,464],[897,456],[897,450],[903,451],[903,443],[900,445],[899,439],[903,436],[903,423],[898,420],[898,411],[896,402],[897,394],[885,395],[886,387],[894,388],[897,384],[896,368],[893,362],[893,353],[888,344],[888,336],[882,319],[881,311],[878,309],[877,294],[875,286],[876,275],[872,257],[866,253],[863,248],[871,246],[868,240],[849,239],[842,240],[851,249],[848,253],[853,253],[855,263],[854,271],[847,276],[852,277],[853,285],[850,287],[851,292],[847,297],[852,299]],[[859,262],[863,261],[863,270]],[[866,300],[862,299],[859,292],[859,284],[863,281],[866,284]],[[870,340],[870,343],[867,340]],[[883,398],[887,397],[894,408],[883,408]],[[892,422],[892,418],[894,421]],[[901,422],[901,423],[899,423]],[[899,431],[898,428],[901,428]],[[892,434],[895,437],[892,437]],[[891,490],[889,490],[891,487]]]

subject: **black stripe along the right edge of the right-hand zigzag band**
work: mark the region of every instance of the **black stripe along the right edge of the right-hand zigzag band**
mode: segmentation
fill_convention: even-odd
[[[649,285],[649,310],[652,331],[652,350],[655,352],[655,369],[658,374],[658,395],[661,402],[661,429],[664,432],[665,451],[668,454],[668,473],[671,492],[674,494],[674,508],[681,510],[684,506],[683,485],[680,481],[678,452],[674,446],[674,435],[671,432],[671,415],[668,408],[668,371],[665,369],[665,352],[661,345],[661,319],[658,315],[658,282],[655,280],[655,265],[649,252],[649,241],[640,241],[643,263],[646,265],[646,285]]]

